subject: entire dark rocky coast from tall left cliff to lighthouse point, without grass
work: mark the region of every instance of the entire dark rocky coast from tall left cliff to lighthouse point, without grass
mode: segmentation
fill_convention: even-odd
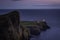
[[[30,21],[27,24],[30,28],[24,25],[21,26],[21,24],[19,26],[18,11],[0,15],[0,40],[30,40],[30,34],[39,35],[42,30],[49,28],[46,22],[32,23]]]

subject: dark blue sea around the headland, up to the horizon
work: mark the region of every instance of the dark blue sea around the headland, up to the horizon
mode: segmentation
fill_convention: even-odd
[[[11,10],[0,10],[0,14]],[[19,9],[21,21],[41,21],[45,19],[50,29],[30,40],[60,40],[60,9]]]

